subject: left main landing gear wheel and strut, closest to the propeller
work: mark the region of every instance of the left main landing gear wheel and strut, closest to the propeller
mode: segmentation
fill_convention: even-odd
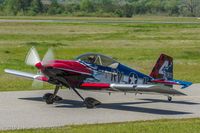
[[[47,104],[53,104],[55,101],[62,100],[61,97],[57,96],[58,90],[60,89],[60,86],[56,86],[54,93],[46,93],[43,96],[43,99],[46,101]]]

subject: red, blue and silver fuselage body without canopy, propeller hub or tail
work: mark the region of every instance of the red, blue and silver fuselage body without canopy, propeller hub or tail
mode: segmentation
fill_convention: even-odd
[[[151,77],[121,63],[113,68],[82,60],[53,60],[39,69],[50,82],[62,77],[76,88],[84,82],[147,84],[151,80]]]

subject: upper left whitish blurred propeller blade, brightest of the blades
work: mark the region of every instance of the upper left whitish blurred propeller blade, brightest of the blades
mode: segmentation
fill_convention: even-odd
[[[35,49],[35,47],[32,47],[26,56],[25,63],[27,65],[35,66],[35,64],[39,62],[40,62],[40,57],[38,55],[38,52]]]

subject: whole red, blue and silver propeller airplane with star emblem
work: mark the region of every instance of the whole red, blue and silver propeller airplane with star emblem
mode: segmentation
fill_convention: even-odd
[[[94,108],[101,102],[92,97],[84,98],[78,89],[106,91],[109,94],[112,92],[162,94],[171,101],[172,96],[185,95],[173,89],[173,85],[181,86],[182,89],[192,85],[192,82],[173,79],[173,58],[165,54],[160,55],[150,75],[98,53],[82,54],[75,60],[55,60],[52,49],[49,49],[41,61],[37,50],[32,47],[26,56],[25,63],[35,66],[39,73],[32,74],[12,69],[4,71],[55,85],[53,93],[46,93],[43,96],[47,104],[62,100],[57,96],[62,86],[73,90],[87,108]]]

